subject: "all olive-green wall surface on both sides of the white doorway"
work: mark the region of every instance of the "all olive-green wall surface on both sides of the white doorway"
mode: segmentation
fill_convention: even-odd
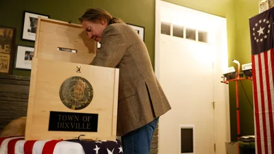
[[[166,0],[187,8],[207,12],[216,16],[227,18],[227,43],[229,66],[232,60],[239,60],[242,64],[251,62],[248,18],[258,13],[258,1],[252,0]],[[104,8],[112,16],[122,18],[126,23],[142,25],[145,27],[145,44],[149,49],[149,55],[154,65],[154,22],[155,0],[1,0],[0,1],[0,25],[15,27],[17,29],[16,44],[34,46],[34,42],[21,40],[23,11],[48,14],[50,18],[60,21],[73,21],[78,23],[77,18],[87,8]],[[235,66],[236,68],[236,66]],[[29,76],[25,70],[13,70],[14,75]],[[221,75],[220,75],[221,77]],[[242,81],[246,86],[247,95],[252,101],[252,88],[250,81]],[[240,83],[239,83],[240,87]],[[230,118],[232,140],[236,140],[236,111],[235,111],[235,86],[229,84]],[[242,89],[240,94],[245,96]],[[242,134],[253,134],[253,110],[245,97],[240,97]]]

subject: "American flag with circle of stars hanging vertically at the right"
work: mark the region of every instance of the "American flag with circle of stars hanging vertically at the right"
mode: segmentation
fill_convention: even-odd
[[[249,18],[256,153],[274,153],[274,8]]]

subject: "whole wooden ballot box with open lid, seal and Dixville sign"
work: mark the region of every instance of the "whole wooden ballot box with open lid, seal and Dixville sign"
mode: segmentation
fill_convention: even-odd
[[[116,140],[119,69],[96,52],[82,25],[38,18],[25,140]]]

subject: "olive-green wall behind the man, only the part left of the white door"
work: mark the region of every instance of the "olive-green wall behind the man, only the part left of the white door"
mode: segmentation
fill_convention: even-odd
[[[154,64],[154,5],[155,1],[150,0],[1,0],[0,25],[15,27],[17,29],[16,44],[34,46],[34,42],[21,40],[24,10],[48,14],[50,18],[60,21],[71,20],[73,23],[79,23],[77,18],[79,18],[87,8],[104,8],[108,10],[112,16],[118,16],[126,23],[145,27],[145,43],[147,44],[149,55]],[[14,70],[13,74],[29,76],[30,71]]]

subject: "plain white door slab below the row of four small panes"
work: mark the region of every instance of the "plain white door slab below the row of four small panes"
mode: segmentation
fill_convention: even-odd
[[[173,107],[169,118],[176,119],[169,125],[194,125],[194,152],[203,154],[214,153],[211,57],[209,44],[161,35],[160,82]],[[169,127],[161,129],[170,130]],[[161,152],[170,153],[169,150]]]

